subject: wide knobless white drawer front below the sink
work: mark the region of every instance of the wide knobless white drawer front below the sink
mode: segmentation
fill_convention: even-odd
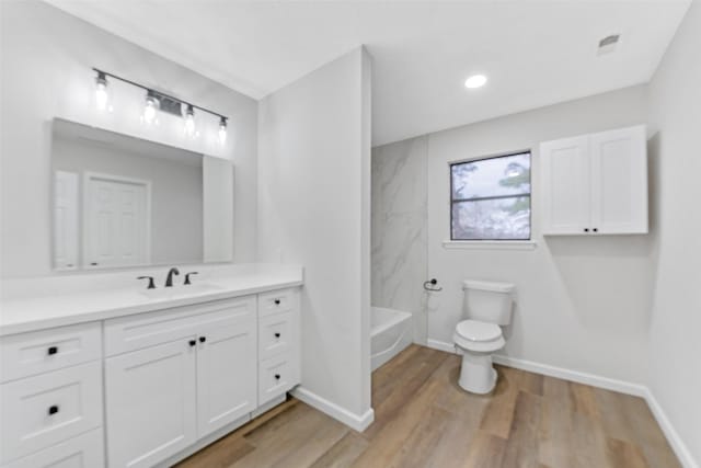
[[[105,356],[182,340],[222,321],[246,320],[255,317],[255,308],[256,297],[245,296],[106,320]]]

